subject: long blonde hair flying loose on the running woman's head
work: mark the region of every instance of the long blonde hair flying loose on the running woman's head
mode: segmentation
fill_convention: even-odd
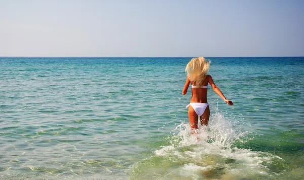
[[[207,61],[204,57],[197,57],[188,62],[185,71],[191,82],[195,82],[196,86],[202,86],[209,70],[211,61]]]

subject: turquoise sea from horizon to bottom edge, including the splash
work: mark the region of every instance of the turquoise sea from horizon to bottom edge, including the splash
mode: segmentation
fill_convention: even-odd
[[[209,58],[189,134],[191,58],[0,58],[1,179],[303,179],[304,58]]]

